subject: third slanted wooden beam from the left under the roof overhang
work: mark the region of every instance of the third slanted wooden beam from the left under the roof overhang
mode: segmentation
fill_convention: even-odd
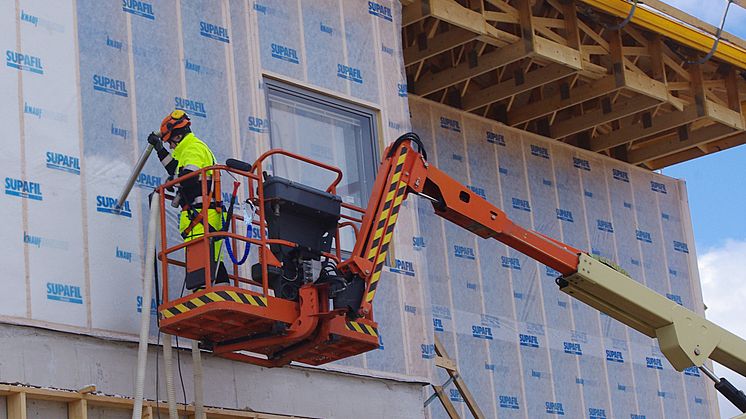
[[[527,73],[522,80],[512,78],[479,90],[462,99],[462,108],[473,111],[490,103],[499,102],[513,95],[523,93],[541,85],[551,83],[573,74],[575,70],[560,64],[550,64],[546,67]]]

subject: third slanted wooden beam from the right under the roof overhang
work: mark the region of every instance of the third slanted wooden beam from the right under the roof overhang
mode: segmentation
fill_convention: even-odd
[[[680,127],[702,117],[704,117],[704,113],[700,112],[696,106],[689,106],[681,112],[669,112],[653,118],[649,125],[646,125],[643,120],[637,124],[628,125],[597,137],[591,141],[591,151],[599,152],[608,150],[618,145]]]

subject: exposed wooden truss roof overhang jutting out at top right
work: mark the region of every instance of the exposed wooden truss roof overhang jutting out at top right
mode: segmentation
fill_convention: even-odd
[[[651,170],[746,143],[746,42],[692,63],[715,28],[665,3],[402,4],[410,94]]]

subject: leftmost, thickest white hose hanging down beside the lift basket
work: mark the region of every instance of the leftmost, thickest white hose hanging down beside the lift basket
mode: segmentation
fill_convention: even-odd
[[[132,419],[142,418],[142,399],[145,391],[145,365],[148,360],[148,336],[150,333],[150,300],[152,298],[153,268],[155,267],[156,232],[160,224],[160,200],[153,193],[150,198],[148,238],[145,245],[145,275],[142,278],[142,309],[140,310],[140,344],[137,351],[137,378],[135,381],[135,404]]]

